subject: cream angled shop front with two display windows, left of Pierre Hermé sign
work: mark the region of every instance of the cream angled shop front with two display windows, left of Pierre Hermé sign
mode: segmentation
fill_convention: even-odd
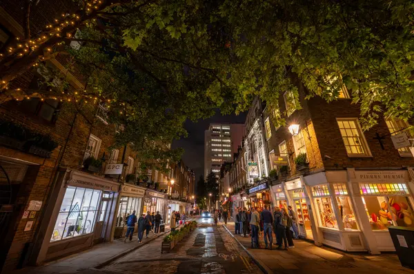
[[[346,172],[316,173],[304,177],[304,181],[310,189],[322,244],[343,251],[366,251],[364,235],[346,184]]]

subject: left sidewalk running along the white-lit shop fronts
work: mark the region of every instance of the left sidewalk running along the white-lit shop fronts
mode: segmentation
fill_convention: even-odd
[[[190,221],[193,219],[187,219]],[[181,225],[177,226],[180,227]],[[26,268],[13,271],[13,274],[57,274],[57,273],[78,273],[88,268],[101,268],[110,264],[119,257],[122,257],[132,251],[135,251],[141,246],[145,246],[149,242],[157,239],[157,237],[163,237],[170,232],[170,226],[166,226],[165,233],[155,234],[150,232],[148,238],[144,233],[142,242],[139,243],[137,240],[137,233],[134,234],[132,242],[129,239],[124,243],[124,237],[115,239],[113,242],[105,242],[92,246],[92,248],[86,251],[68,255],[59,260],[48,262],[42,266],[28,266]]]

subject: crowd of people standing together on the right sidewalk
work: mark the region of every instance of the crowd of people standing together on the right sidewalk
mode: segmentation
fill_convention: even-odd
[[[235,234],[251,237],[252,248],[260,248],[259,231],[264,235],[265,248],[272,249],[273,233],[276,236],[277,248],[294,248],[293,239],[299,238],[299,230],[296,224],[295,213],[291,206],[279,208],[275,206],[273,212],[270,206],[265,205],[263,209],[258,207],[237,208],[235,215]]]

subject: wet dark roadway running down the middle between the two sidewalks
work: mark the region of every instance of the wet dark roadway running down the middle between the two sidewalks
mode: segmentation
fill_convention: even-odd
[[[244,249],[212,219],[197,219],[195,231],[170,253],[161,254],[161,237],[101,269],[108,273],[262,273]]]

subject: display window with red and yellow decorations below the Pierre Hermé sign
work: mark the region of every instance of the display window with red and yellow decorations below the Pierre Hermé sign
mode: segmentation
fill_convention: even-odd
[[[386,230],[389,226],[414,228],[413,206],[406,196],[362,197],[371,228]]]

